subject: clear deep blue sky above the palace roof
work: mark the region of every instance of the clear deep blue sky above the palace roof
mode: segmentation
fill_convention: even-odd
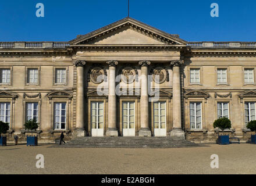
[[[0,13],[0,41],[69,41],[126,17],[127,0],[2,0]],[[130,0],[130,17],[186,41],[256,41],[254,0]]]

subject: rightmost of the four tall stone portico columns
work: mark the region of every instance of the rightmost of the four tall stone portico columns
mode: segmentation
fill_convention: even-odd
[[[184,131],[182,129],[182,103],[180,99],[180,66],[183,65],[182,60],[172,61],[170,65],[173,67],[173,81],[172,81],[172,110],[173,110],[173,128],[170,132],[171,137],[184,138]]]

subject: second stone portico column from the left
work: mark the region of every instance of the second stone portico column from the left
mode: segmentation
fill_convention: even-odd
[[[109,65],[108,73],[108,130],[106,136],[118,136],[118,128],[116,127],[116,65],[117,61],[106,62]]]

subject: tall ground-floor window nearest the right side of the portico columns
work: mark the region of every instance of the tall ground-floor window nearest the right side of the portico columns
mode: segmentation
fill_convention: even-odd
[[[202,128],[202,112],[201,103],[190,103],[190,128],[201,129]]]

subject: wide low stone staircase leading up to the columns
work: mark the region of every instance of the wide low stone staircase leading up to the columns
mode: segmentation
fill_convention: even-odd
[[[70,148],[178,148],[202,146],[175,137],[79,137],[60,147]]]

